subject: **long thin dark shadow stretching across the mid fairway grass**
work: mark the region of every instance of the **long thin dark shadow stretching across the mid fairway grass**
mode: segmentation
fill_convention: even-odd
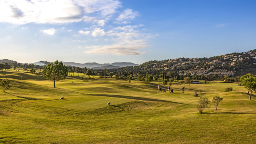
[[[169,102],[174,104],[183,104],[180,102],[171,102],[168,100],[158,100],[153,98],[142,98],[142,97],[136,97],[136,96],[122,96],[122,95],[113,95],[113,94],[89,94],[91,96],[106,96],[106,97],[112,97],[112,98],[127,98],[132,100],[146,100],[146,101],[153,101],[153,102]]]

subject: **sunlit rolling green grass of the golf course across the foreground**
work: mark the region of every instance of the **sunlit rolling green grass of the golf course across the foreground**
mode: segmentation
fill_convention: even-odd
[[[11,80],[11,88],[0,91],[0,143],[256,141],[256,97],[248,100],[247,90],[233,83],[172,84],[174,94],[168,94],[157,92],[158,84],[167,90],[160,82],[75,75],[53,88],[53,82],[40,74],[6,70],[0,71],[0,78]],[[224,92],[226,87],[233,91]],[[194,92],[224,100],[217,111],[212,105],[198,114]]]

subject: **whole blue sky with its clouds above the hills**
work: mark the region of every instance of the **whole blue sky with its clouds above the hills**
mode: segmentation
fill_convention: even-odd
[[[142,64],[254,49],[255,0],[0,1],[0,59]]]

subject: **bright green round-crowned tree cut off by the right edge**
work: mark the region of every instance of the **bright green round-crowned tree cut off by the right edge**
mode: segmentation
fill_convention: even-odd
[[[256,90],[256,76],[253,74],[246,74],[240,78],[240,81],[244,87],[250,91],[249,100],[251,100],[252,92],[255,92]]]

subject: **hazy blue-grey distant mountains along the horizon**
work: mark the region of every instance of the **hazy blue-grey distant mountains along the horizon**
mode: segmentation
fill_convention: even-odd
[[[40,65],[40,66],[44,66],[46,64],[49,64],[50,62],[46,62],[46,61],[40,61],[40,62],[34,62],[33,64],[35,65]],[[76,62],[63,62],[63,64],[65,64],[66,66],[76,66],[76,67],[80,67],[80,68],[93,68],[93,69],[108,69],[108,68],[121,68],[121,67],[126,67],[126,66],[138,66],[138,64],[134,64],[132,62],[114,62],[112,64],[98,64],[96,62],[87,62],[84,64],[80,64],[80,63],[76,63]]]

